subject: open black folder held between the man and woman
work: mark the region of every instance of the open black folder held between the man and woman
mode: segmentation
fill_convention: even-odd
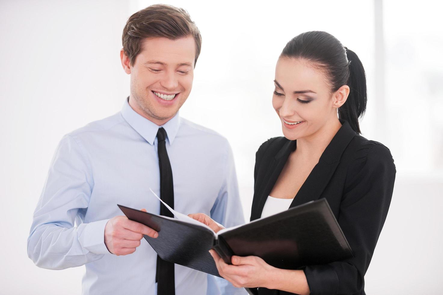
[[[217,275],[210,249],[227,264],[231,256],[259,256],[284,269],[327,264],[353,256],[326,199],[307,202],[266,218],[227,229],[220,235],[197,224],[118,207],[130,220],[159,232],[144,236],[155,252],[169,262]]]

